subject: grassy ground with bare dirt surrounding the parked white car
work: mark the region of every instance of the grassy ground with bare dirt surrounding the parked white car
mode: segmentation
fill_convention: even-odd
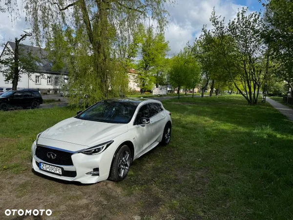
[[[291,121],[237,95],[174,98],[164,106],[172,113],[171,143],[134,161],[123,182],[86,186],[30,171],[37,133],[75,109],[0,112],[0,215],[45,207],[68,220],[293,218]]]

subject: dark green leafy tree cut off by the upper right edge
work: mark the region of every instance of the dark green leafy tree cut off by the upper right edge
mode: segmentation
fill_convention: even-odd
[[[264,39],[272,50],[275,73],[291,88],[293,97],[293,2],[270,0],[265,11]]]

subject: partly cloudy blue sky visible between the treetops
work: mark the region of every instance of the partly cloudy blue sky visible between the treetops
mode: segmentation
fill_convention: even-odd
[[[176,54],[188,42],[192,44],[201,34],[204,24],[211,28],[209,18],[213,7],[217,15],[225,17],[226,21],[235,18],[238,8],[249,7],[249,11],[260,11],[262,5],[258,0],[177,0],[173,5],[167,5],[170,18],[165,32],[166,41],[169,41],[170,51],[168,56]],[[15,22],[7,13],[0,14],[0,44],[9,40],[14,41],[23,30],[29,28],[25,22],[24,14]],[[26,39],[24,44],[30,44]],[[1,51],[1,47],[0,47]]]

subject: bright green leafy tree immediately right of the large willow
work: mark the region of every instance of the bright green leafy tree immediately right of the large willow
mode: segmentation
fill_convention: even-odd
[[[168,42],[165,41],[164,34],[154,33],[153,27],[149,26],[143,34],[142,59],[138,63],[138,78],[142,92],[151,89],[153,84],[158,87],[164,77],[164,62],[168,51]]]

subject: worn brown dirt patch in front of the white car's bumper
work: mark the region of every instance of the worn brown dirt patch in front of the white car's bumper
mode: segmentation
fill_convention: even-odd
[[[114,182],[68,184],[32,172],[21,175],[1,172],[0,176],[0,219],[20,219],[18,216],[5,216],[6,209],[51,209],[50,217],[41,217],[48,220],[129,220],[138,213],[130,208],[138,198],[124,195]],[[35,220],[36,217],[21,219]]]

